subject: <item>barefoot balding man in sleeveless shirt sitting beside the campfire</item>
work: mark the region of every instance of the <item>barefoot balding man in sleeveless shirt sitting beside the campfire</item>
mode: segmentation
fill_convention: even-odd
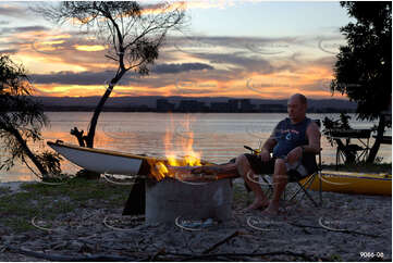
[[[193,173],[237,174],[255,192],[254,202],[247,210],[263,209],[266,214],[278,214],[280,197],[286,184],[297,181],[318,170],[316,154],[320,151],[318,125],[306,117],[307,99],[304,95],[293,95],[287,102],[288,117],[281,121],[259,154],[242,154],[234,164],[201,166]],[[270,153],[273,158],[270,158]],[[273,174],[273,197],[269,200],[253,178],[257,174]]]

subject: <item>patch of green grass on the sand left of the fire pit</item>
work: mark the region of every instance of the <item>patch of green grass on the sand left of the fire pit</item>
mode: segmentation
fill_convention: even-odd
[[[79,208],[123,208],[131,190],[128,185],[113,185],[105,181],[70,179],[66,184],[23,184],[24,191],[10,193],[0,188],[0,227],[13,231],[34,229],[30,224],[37,218],[54,220],[59,214]]]

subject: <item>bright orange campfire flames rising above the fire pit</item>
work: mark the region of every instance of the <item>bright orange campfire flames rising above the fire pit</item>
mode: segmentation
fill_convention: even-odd
[[[173,140],[173,118],[171,116],[171,125],[167,127],[165,135],[163,138],[165,146],[165,160],[150,161],[150,175],[157,180],[161,180],[165,177],[175,178],[181,176],[182,173],[189,173],[189,166],[200,166],[200,153],[193,150],[194,133],[191,129],[192,120],[187,115],[185,123],[183,123],[186,130],[186,136],[181,137],[181,152],[183,156],[175,154],[174,143],[179,142]],[[173,142],[172,142],[173,141]]]

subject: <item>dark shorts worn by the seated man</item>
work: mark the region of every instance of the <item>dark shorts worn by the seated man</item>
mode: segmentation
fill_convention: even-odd
[[[274,173],[275,159],[270,159],[268,162],[262,162],[258,155],[250,153],[245,153],[244,155],[247,158],[248,163],[255,174],[271,175]],[[287,176],[290,181],[297,181],[310,175],[310,173],[302,172],[303,168],[303,163],[299,163],[299,166],[294,167],[288,167],[287,165]]]

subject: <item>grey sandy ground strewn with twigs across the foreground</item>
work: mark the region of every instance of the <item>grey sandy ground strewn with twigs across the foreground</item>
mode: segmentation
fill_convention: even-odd
[[[20,184],[1,187],[17,191]],[[324,192],[322,208],[303,199],[273,217],[263,217],[260,211],[243,213],[243,209],[234,204],[231,221],[186,230],[175,224],[146,225],[140,218],[121,216],[122,208],[86,205],[56,220],[37,218],[37,228],[28,233],[1,228],[0,261],[45,260],[12,248],[74,258],[105,254],[123,256],[113,258],[123,261],[177,261],[192,254],[205,256],[193,261],[392,260],[391,197]]]

